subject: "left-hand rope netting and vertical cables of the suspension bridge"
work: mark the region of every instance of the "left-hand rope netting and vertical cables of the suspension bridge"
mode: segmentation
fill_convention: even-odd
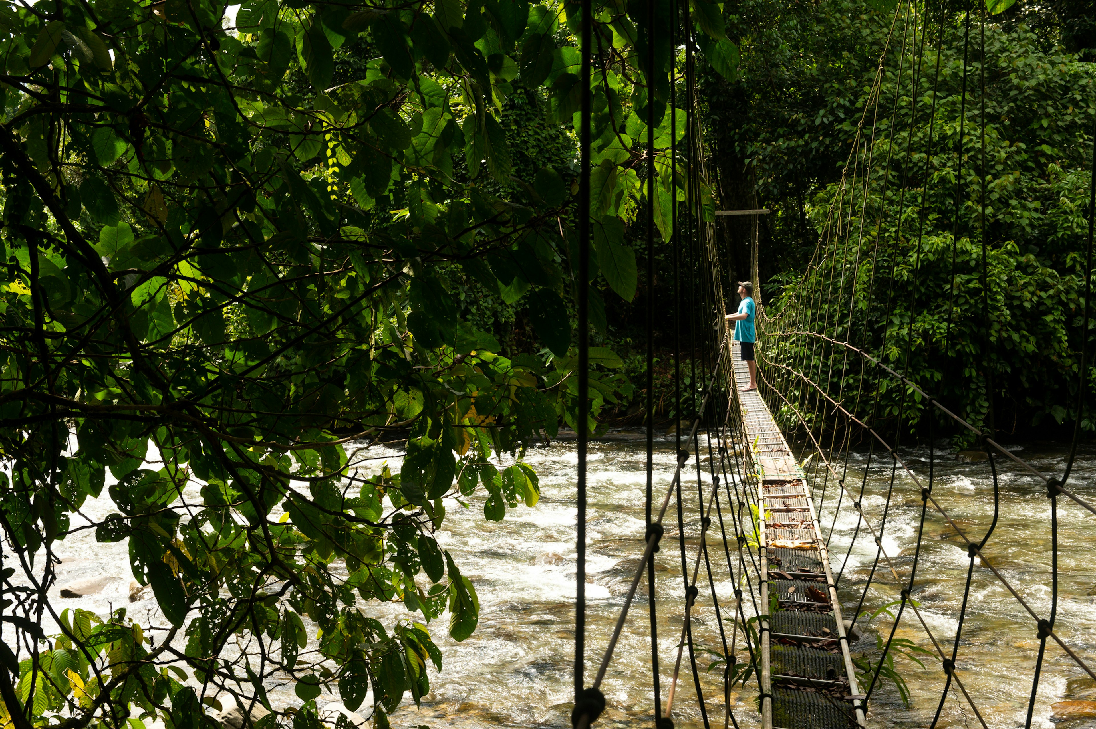
[[[654,717],[659,727],[672,727],[675,702],[681,697],[684,673],[692,674],[692,684],[696,692],[697,708],[703,725],[711,726],[708,706],[701,685],[701,673],[706,671],[700,665],[704,656],[694,636],[693,614],[698,601],[707,603],[710,596],[715,613],[718,650],[704,648],[705,654],[718,657],[715,663],[722,662],[723,703],[722,725],[739,726],[732,707],[732,686],[735,682],[745,684],[750,676],[757,685],[756,671],[761,658],[757,645],[757,631],[754,626],[756,616],[764,612],[757,604],[756,574],[758,573],[758,555],[756,543],[751,542],[755,532],[747,504],[756,502],[756,487],[752,486],[749,475],[755,469],[747,463],[749,448],[741,441],[738,423],[737,399],[731,397],[734,388],[733,373],[728,366],[729,332],[724,322],[723,282],[726,274],[720,266],[721,255],[717,250],[713,226],[713,209],[710,197],[701,191],[708,189],[708,173],[705,167],[705,146],[700,129],[699,116],[696,113],[696,48],[694,22],[689,18],[687,3],[667,3],[673,21],[669,26],[657,25],[657,3],[648,3],[647,29],[654,29],[654,34],[670,34],[673,47],[677,49],[670,69],[671,88],[673,92],[666,114],[670,128],[677,129],[678,118],[684,117],[686,133],[678,140],[677,135],[671,135],[670,159],[673,160],[675,196],[684,198],[683,205],[673,206],[669,240],[662,240],[662,246],[672,249],[673,261],[673,381],[674,412],[677,413],[674,432],[674,447],[677,453],[676,468],[664,491],[654,488],[654,306],[653,297],[647,299],[647,534],[643,540],[644,549],[641,562],[632,576],[629,590],[626,593],[618,619],[614,625],[600,660],[593,665],[594,679],[589,685],[583,674],[586,670],[585,646],[585,503],[586,471],[585,454],[589,430],[585,423],[579,431],[579,534],[578,534],[578,594],[575,637],[575,707],[572,713],[572,725],[579,728],[590,726],[605,708],[605,698],[601,692],[606,673],[613,662],[614,654],[624,630],[628,614],[639,591],[644,576],[647,580],[648,611],[651,633],[651,669],[652,694],[654,699]],[[583,3],[583,66],[584,78],[589,79],[592,64],[590,46],[589,2]],[[647,29],[642,29],[646,34]],[[658,38],[644,36],[647,57],[642,68],[647,78],[655,78],[653,47]],[[584,86],[585,88],[585,86]],[[580,112],[583,115],[583,129],[587,128],[590,105],[583,98]],[[654,196],[654,179],[661,171],[655,167],[654,140],[654,105],[647,105],[647,147],[646,164],[648,201]],[[581,151],[583,155],[584,180],[589,179],[589,138],[582,136]],[[589,195],[580,193],[582,200]],[[580,216],[582,213],[580,212]],[[643,224],[646,226],[646,243],[648,270],[646,272],[648,291],[653,289],[655,261],[655,225],[653,205],[647,205]],[[580,260],[589,257],[589,232],[581,235]],[[586,345],[586,327],[584,301],[580,300],[580,346]],[[580,397],[582,385],[580,384]],[[692,413],[684,418],[682,413]],[[581,419],[580,419],[581,420]],[[692,465],[689,462],[692,460]],[[693,472],[690,472],[690,469]],[[695,478],[695,489],[692,485]],[[753,488],[751,496],[746,492]],[[695,501],[694,494],[695,493]],[[667,514],[673,504],[676,525],[666,524]],[[686,510],[695,509],[699,520],[686,522]],[[698,522],[698,523],[696,523]],[[718,531],[718,536],[715,534]],[[681,636],[676,642],[673,656],[660,656],[658,640],[658,620],[655,604],[655,561],[654,555],[660,550],[664,535],[677,542],[681,560],[682,603],[673,606],[674,615],[681,614]],[[710,537],[720,556],[709,553]],[[690,546],[698,543],[698,546]],[[715,561],[715,565],[713,565]],[[724,571],[726,568],[726,571]],[[721,604],[717,585],[729,581],[738,586],[734,589],[732,604]],[[706,584],[705,584],[706,582]],[[701,590],[704,597],[701,597]],[[744,602],[749,600],[750,602]],[[705,604],[707,607],[707,604]],[[663,610],[666,610],[663,606]],[[744,660],[738,660],[735,656]],[[660,663],[666,659],[673,661],[669,685],[663,686],[660,676]],[[754,667],[754,668],[750,668]],[[710,668],[710,667],[709,667]],[[760,688],[760,686],[758,686]]]

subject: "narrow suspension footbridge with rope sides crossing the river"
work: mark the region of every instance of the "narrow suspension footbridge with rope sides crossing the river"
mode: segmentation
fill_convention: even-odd
[[[754,204],[751,209],[720,210],[711,215],[705,210],[698,191],[707,186],[705,167],[706,148],[697,113],[696,60],[694,23],[687,3],[672,2],[670,27],[654,31],[655,4],[648,2],[648,25],[652,33],[666,32],[678,48],[678,61],[671,69],[672,88],[675,90],[669,114],[686,115],[684,148],[672,143],[671,156],[682,166],[681,186],[685,205],[678,215],[674,209],[673,236],[664,241],[673,248],[674,282],[674,380],[675,412],[690,411],[693,419],[683,424],[678,418],[675,429],[676,468],[670,486],[663,493],[653,489],[653,308],[648,297],[647,350],[647,534],[639,568],[632,576],[630,589],[621,606],[612,636],[593,664],[593,681],[587,684],[585,635],[585,454],[589,441],[587,422],[579,422],[579,514],[578,514],[578,594],[574,686],[575,702],[572,725],[585,729],[593,725],[605,708],[601,692],[606,672],[629,612],[644,577],[647,581],[648,612],[651,633],[652,696],[654,724],[660,729],[673,726],[675,703],[680,706],[682,691],[692,674],[692,684],[700,720],[707,729],[721,719],[722,726],[760,724],[763,729],[838,729],[866,727],[876,722],[887,724],[886,715],[871,711],[870,699],[878,691],[880,676],[888,657],[903,650],[911,653],[915,641],[897,638],[900,626],[918,630],[916,647],[912,650],[928,656],[926,663],[938,671],[939,699],[931,725],[935,729],[941,720],[949,696],[961,698],[980,726],[989,729],[1015,725],[1011,717],[993,716],[985,708],[984,691],[979,685],[973,667],[961,656],[964,623],[971,613],[971,584],[974,567],[993,576],[1009,599],[1023,611],[1025,619],[1017,622],[1017,630],[1026,630],[1038,638],[1038,653],[1031,672],[1030,696],[1026,704],[1025,726],[1032,724],[1039,694],[1040,676],[1048,659],[1048,641],[1061,649],[1064,660],[1074,670],[1096,680],[1096,654],[1089,636],[1077,635],[1069,626],[1058,624],[1059,618],[1059,510],[1064,497],[1078,509],[1071,519],[1092,517],[1096,506],[1083,493],[1083,487],[1068,489],[1073,472],[1081,436],[1081,420],[1085,409],[1085,387],[1078,386],[1076,423],[1064,471],[1060,476],[1047,475],[1025,463],[1002,446],[994,437],[992,396],[984,424],[970,422],[957,414],[956,409],[934,397],[923,384],[911,376],[911,352],[914,346],[913,317],[888,327],[898,301],[895,267],[900,247],[913,241],[910,251],[914,266],[913,285],[910,286],[910,310],[916,305],[918,294],[925,295],[917,280],[922,273],[922,251],[925,232],[924,201],[929,192],[929,173],[934,159],[955,152],[958,164],[964,156],[977,166],[980,185],[974,201],[977,224],[962,226],[961,206],[964,191],[961,182],[955,189],[955,214],[951,253],[951,300],[948,304],[947,329],[944,349],[952,337],[956,291],[955,246],[960,235],[977,239],[981,247],[981,315],[982,328],[991,327],[987,296],[990,281],[986,263],[989,235],[985,229],[985,11],[970,10],[962,14],[963,68],[961,77],[961,107],[956,149],[950,137],[936,125],[937,96],[939,93],[940,47],[949,33],[949,15],[945,7],[931,8],[900,2],[894,8],[889,34],[879,58],[879,66],[864,105],[863,114],[852,143],[841,182],[831,201],[827,216],[810,264],[799,283],[783,296],[779,310],[769,316],[761,292],[757,292],[757,381],[758,389],[746,390],[749,374],[740,358],[737,342],[731,341],[724,315],[723,295],[726,273],[722,261],[726,254],[718,239],[715,216],[752,215],[753,235],[752,278],[760,283],[757,264],[757,216],[768,210]],[[580,271],[589,265],[589,183],[591,100],[589,80],[593,60],[591,34],[591,3],[582,2],[582,75],[583,118],[580,147],[583,185],[580,192]],[[974,43],[980,48],[972,55],[972,26],[978,35]],[[951,29],[955,30],[955,29]],[[647,78],[654,78],[653,46],[657,38],[644,38]],[[935,45],[935,60],[932,50]],[[882,80],[892,69],[898,79],[893,100],[883,99]],[[968,87],[970,73],[977,71],[980,102],[979,144],[969,140],[968,100],[973,91]],[[683,71],[683,72],[680,72]],[[931,77],[931,78],[929,78]],[[911,109],[900,115],[900,106]],[[928,109],[924,109],[926,101]],[[681,103],[684,102],[684,103]],[[973,104],[972,104],[973,105]],[[653,197],[654,167],[653,104],[647,105],[648,200]],[[928,138],[924,148],[915,148],[913,129],[924,124],[928,116]],[[890,133],[878,133],[879,122],[887,122]],[[895,148],[898,132],[905,125],[905,148]],[[1096,130],[1094,130],[1096,138]],[[1093,223],[1096,208],[1096,145],[1088,198],[1088,231],[1085,252],[1085,271],[1092,271]],[[975,160],[979,160],[975,162]],[[961,178],[961,172],[956,179]],[[918,184],[920,182],[920,184]],[[888,194],[893,196],[898,185],[898,205],[884,204]],[[906,204],[909,202],[909,204]],[[907,213],[907,208],[913,210]],[[653,261],[654,225],[653,206],[646,212],[648,261]],[[970,229],[966,229],[970,228]],[[580,274],[580,277],[585,275]],[[653,270],[648,266],[648,285],[653,288]],[[582,287],[580,287],[581,291]],[[1087,334],[1089,311],[1089,277],[1084,282],[1084,311],[1082,332]],[[585,357],[587,301],[580,296],[580,357]],[[770,303],[772,304],[772,303]],[[904,327],[904,331],[903,331]],[[989,333],[986,333],[989,337]],[[892,338],[888,341],[888,338]],[[898,342],[893,338],[899,338]],[[687,339],[684,342],[683,339]],[[987,340],[989,342],[989,340]],[[940,345],[941,342],[934,342]],[[883,356],[881,353],[891,351]],[[893,352],[899,352],[895,356]],[[683,353],[688,355],[690,368],[686,391],[683,385]],[[585,360],[583,360],[585,362]],[[1088,363],[1087,337],[1081,356],[1081,373]],[[581,371],[580,371],[581,373]],[[696,384],[701,384],[699,387]],[[972,375],[972,387],[985,387],[993,392],[992,373]],[[589,383],[580,377],[580,400],[586,401]],[[892,413],[898,413],[893,417]],[[887,414],[891,413],[891,414]],[[984,476],[991,485],[993,516],[989,524],[960,524],[954,516],[957,505],[944,494],[934,491],[937,479],[935,451],[928,449],[927,475],[915,470],[903,455],[903,436],[921,432],[932,443],[938,430],[968,434],[968,440],[985,452]],[[799,453],[789,443],[800,444]],[[867,463],[850,467],[854,448],[863,455],[867,446]],[[799,457],[810,454],[803,462]],[[808,460],[813,464],[804,467]],[[706,465],[705,465],[706,464]],[[868,475],[889,470],[887,488],[882,493],[869,490]],[[995,565],[994,544],[1008,536],[996,529],[1001,515],[1001,475],[1006,467],[1018,476],[1035,478],[1046,488],[1050,501],[1049,522],[1044,525],[1050,537],[1050,584],[1048,604],[1036,604],[1017,583],[1015,577]],[[693,497],[684,488],[696,478],[696,510],[699,524],[686,524],[685,504]],[[857,482],[858,481],[858,482]],[[874,485],[871,485],[874,487]],[[894,506],[904,498],[901,492],[912,489],[920,500],[920,520],[916,543],[899,555],[889,551],[886,536],[891,526]],[[990,496],[990,494],[987,494]],[[876,499],[868,499],[876,497]],[[871,502],[869,506],[868,502]],[[878,502],[882,502],[879,508]],[[673,525],[664,524],[676,508],[676,540],[681,558],[682,596],[673,607],[681,615],[681,636],[676,643],[673,670],[669,681],[663,677],[657,635],[654,590],[654,554],[662,539],[673,534]],[[1084,510],[1089,512],[1083,513]],[[823,514],[831,514],[829,524]],[[938,622],[926,617],[924,608],[914,599],[922,586],[918,567],[924,558],[926,519],[929,513],[954,529],[967,553],[966,580],[962,601],[954,616],[955,628],[941,631]],[[834,554],[831,540],[841,514],[855,519],[855,529],[844,555]],[[695,534],[695,550],[687,532]],[[991,540],[992,537],[992,540]],[[863,584],[850,585],[842,581],[849,557],[857,546],[869,542],[875,553]],[[715,547],[718,545],[719,549]],[[709,551],[709,547],[712,547]],[[721,604],[712,577],[712,553],[717,562],[726,561],[726,574],[737,585],[734,599]],[[722,553],[723,560],[719,560]],[[912,558],[911,558],[912,555]],[[704,568],[701,571],[701,567]],[[717,571],[722,570],[717,563]],[[837,568],[836,574],[834,568]],[[888,574],[887,580],[880,573]],[[698,647],[694,640],[694,615],[700,600],[704,578],[715,608],[716,628],[720,650],[708,651],[720,656],[712,665],[722,664],[722,695],[720,702],[703,692]],[[901,585],[900,599],[890,606],[893,618],[888,635],[880,640],[881,652],[874,660],[858,662],[855,652],[856,636],[863,626],[857,622],[872,591],[879,592],[880,582]],[[1029,594],[1029,593],[1028,593]],[[883,597],[886,595],[878,595]],[[872,597],[874,599],[874,597]],[[707,597],[705,597],[707,600]],[[724,601],[726,602],[726,601]],[[843,610],[854,605],[853,610]],[[884,606],[886,608],[887,606]],[[878,614],[878,613],[877,613]],[[912,618],[912,619],[911,619]],[[870,619],[870,618],[869,618]],[[903,623],[905,620],[905,623]],[[936,663],[932,663],[932,659]],[[743,708],[735,685],[743,694],[756,694],[756,713]],[[721,704],[721,706],[719,705]],[[749,716],[747,716],[749,715]],[[719,718],[716,718],[719,717]]]

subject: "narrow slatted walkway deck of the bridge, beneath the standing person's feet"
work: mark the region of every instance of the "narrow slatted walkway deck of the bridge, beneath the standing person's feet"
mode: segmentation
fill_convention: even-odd
[[[732,343],[734,396],[757,478],[763,729],[864,727],[830,555],[807,476]],[[733,396],[732,396],[733,397]],[[763,610],[765,610],[763,607]]]

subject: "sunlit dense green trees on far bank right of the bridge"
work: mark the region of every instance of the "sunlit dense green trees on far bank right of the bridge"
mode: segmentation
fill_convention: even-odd
[[[795,310],[785,329],[881,355],[977,425],[990,424],[991,395],[1004,432],[1072,421],[1096,122],[1096,70],[1061,45],[1073,26],[1023,3],[986,14],[983,92],[977,12],[968,37],[966,13],[939,7],[915,20],[905,7],[895,15],[893,4],[855,1],[823,3],[809,20],[797,8],[761,18],[770,8],[742,2],[739,25],[729,25],[750,33],[742,84],[709,80],[711,118],[727,122],[713,129],[721,158],[744,160],[774,208],[758,261],[769,314]],[[735,93],[745,112],[729,105]],[[735,125],[735,114],[749,119]],[[818,385],[848,403],[861,392],[879,418],[904,400],[905,422],[916,424],[920,406],[893,378],[880,380],[875,400],[878,371],[861,380],[841,348],[814,354],[833,357],[832,368],[811,365]],[[787,357],[802,363],[804,350]]]

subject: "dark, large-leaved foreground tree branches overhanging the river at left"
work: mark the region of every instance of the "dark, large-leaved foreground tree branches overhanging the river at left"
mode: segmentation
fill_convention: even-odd
[[[692,8],[732,76],[719,7]],[[235,703],[309,727],[326,685],[351,709],[372,690],[383,727],[429,691],[429,624],[478,620],[443,499],[537,502],[522,455],[580,417],[576,286],[604,331],[637,287],[629,224],[653,205],[667,232],[681,194],[667,38],[649,83],[644,8],[595,9],[580,282],[575,4],[249,0],[227,30],[210,0],[0,5],[4,726],[181,729]],[[597,428],[630,385],[612,350],[591,363]],[[406,443],[399,472],[355,460],[378,440]],[[59,544],[92,529],[159,614],[49,600]],[[300,705],[272,707],[272,679]]]

